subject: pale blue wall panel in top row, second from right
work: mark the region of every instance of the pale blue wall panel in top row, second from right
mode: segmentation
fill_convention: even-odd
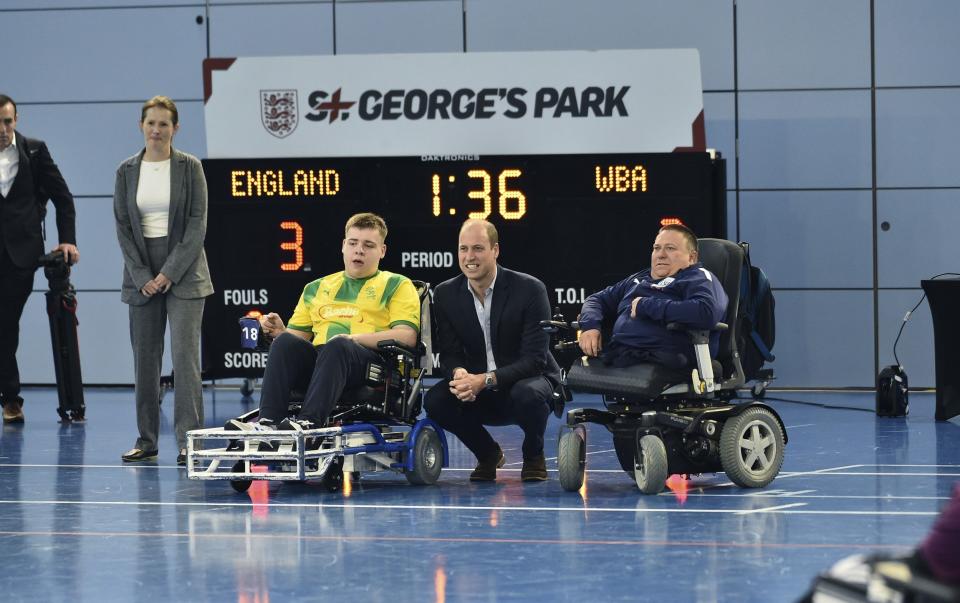
[[[869,0],[738,0],[741,89],[870,85]]]

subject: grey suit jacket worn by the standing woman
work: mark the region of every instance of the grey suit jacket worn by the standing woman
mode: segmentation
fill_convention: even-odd
[[[144,151],[117,168],[113,215],[123,254],[120,299],[141,306],[150,298],[140,293],[156,274],[150,271],[147,245],[137,208],[137,185]],[[207,180],[200,160],[176,149],[170,156],[170,217],[167,224],[167,261],[160,270],[173,282],[170,292],[181,299],[213,293],[203,239],[207,234]]]

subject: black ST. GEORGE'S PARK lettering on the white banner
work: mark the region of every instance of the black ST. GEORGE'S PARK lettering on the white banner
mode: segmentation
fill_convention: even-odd
[[[346,120],[356,105],[357,114],[365,121],[420,119],[490,119],[503,115],[518,119],[531,114],[544,117],[627,117],[624,99],[630,86],[587,86],[577,89],[544,87],[531,92],[526,88],[437,88],[427,91],[366,90],[357,101],[341,100],[341,89],[332,95],[323,90],[310,93],[311,121]]]

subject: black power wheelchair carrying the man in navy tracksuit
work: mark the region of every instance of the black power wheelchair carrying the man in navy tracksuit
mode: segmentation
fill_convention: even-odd
[[[599,359],[558,354],[566,369],[565,389],[602,394],[605,406],[567,412],[557,452],[565,490],[583,485],[586,423],[603,425],[613,434],[620,466],[644,494],[662,491],[671,474],[724,471],[739,486],[761,488],[780,472],[787,443],[780,416],[757,400],[734,402],[746,381],[737,352],[743,250],[730,241],[700,239],[699,252],[701,263],[720,279],[729,298],[726,322],[714,329],[721,331],[716,359],[710,357],[706,330],[688,331],[696,368],[686,373],[654,364],[614,368]],[[554,348],[579,350],[569,339],[579,325],[555,318],[559,320],[541,323],[554,334]],[[683,329],[676,324],[667,328]]]

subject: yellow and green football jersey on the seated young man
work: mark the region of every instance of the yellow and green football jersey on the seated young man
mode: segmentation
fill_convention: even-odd
[[[303,288],[287,322],[287,328],[312,332],[313,345],[397,325],[420,330],[420,298],[410,279],[384,270],[364,279],[337,272],[313,281]]]

